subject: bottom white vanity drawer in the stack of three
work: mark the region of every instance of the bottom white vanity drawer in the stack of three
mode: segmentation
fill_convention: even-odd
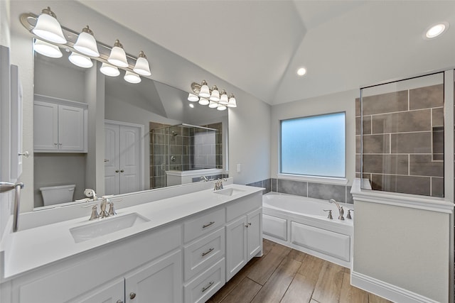
[[[225,258],[185,286],[185,302],[205,302],[225,285]]]

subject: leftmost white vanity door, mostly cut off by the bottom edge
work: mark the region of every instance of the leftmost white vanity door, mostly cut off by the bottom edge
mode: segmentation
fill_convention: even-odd
[[[103,287],[97,287],[95,292],[82,298],[78,297],[74,303],[123,303],[125,297],[124,283],[124,279],[119,279]],[[73,301],[70,302],[73,303]]]

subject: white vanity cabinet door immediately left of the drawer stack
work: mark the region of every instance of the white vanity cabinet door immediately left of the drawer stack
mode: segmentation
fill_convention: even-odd
[[[145,265],[125,277],[127,303],[183,301],[181,250]]]

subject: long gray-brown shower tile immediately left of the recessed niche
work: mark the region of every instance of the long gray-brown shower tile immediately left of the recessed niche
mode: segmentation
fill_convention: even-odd
[[[432,133],[392,133],[392,153],[432,153]]]

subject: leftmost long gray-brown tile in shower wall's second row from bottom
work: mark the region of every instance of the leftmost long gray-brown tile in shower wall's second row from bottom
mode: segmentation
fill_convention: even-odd
[[[407,155],[363,155],[363,172],[407,175]]]

